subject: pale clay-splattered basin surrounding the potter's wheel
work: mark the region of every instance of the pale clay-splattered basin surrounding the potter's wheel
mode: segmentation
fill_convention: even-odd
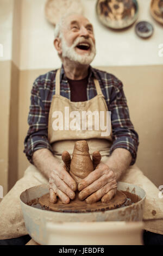
[[[118,182],[118,190],[122,191],[128,191],[131,193],[137,194],[141,199],[139,202],[132,204],[130,206],[126,206],[124,208],[118,208],[114,210],[108,210],[108,211],[103,211],[103,212],[86,212],[86,213],[68,213],[68,212],[54,212],[54,211],[46,211],[46,210],[41,210],[34,208],[32,206],[27,205],[27,203],[32,201],[35,198],[39,198],[43,196],[43,194],[48,193],[48,184],[43,184],[35,187],[31,187],[28,190],[24,191],[21,193],[20,200],[21,200],[21,206],[22,206],[22,212],[24,216],[24,222],[26,224],[26,228],[28,230],[29,235],[38,243],[41,245],[48,245],[48,244],[60,244],[60,245],[66,245],[68,244],[66,241],[60,241],[57,242],[56,239],[52,239],[53,235],[58,232],[56,230],[56,225],[62,226],[62,229],[65,228],[66,226],[70,224],[71,229],[81,229],[83,230],[83,236],[84,234],[89,234],[89,236],[92,236],[93,233],[96,233],[98,236],[98,242],[93,242],[95,240],[86,240],[86,243],[84,241],[81,241],[81,237],[78,236],[78,239],[76,238],[76,243],[69,243],[69,244],[97,244],[97,245],[104,245],[104,244],[111,244],[109,243],[108,240],[105,240],[105,242],[102,240],[101,234],[103,234],[103,231],[105,230],[104,234],[105,236],[107,235],[107,230],[109,231],[109,225],[111,224],[112,221],[115,221],[116,223],[118,221],[142,221],[143,217],[143,208],[145,204],[145,198],[146,198],[146,193],[145,191],[135,185],[132,184],[127,184],[124,182]],[[67,222],[65,225],[61,222]],[[72,222],[72,223],[70,223]],[[77,223],[77,222],[83,222]],[[91,222],[91,223],[90,223]],[[92,223],[93,222],[93,223]],[[105,222],[105,223],[101,223]],[[139,224],[137,222],[137,232],[139,233],[139,241],[140,241],[140,234],[141,234],[141,229],[142,229],[142,224]],[[122,225],[122,223],[121,223]],[[134,225],[134,227],[136,227]],[[108,227],[104,228],[104,227]],[[123,226],[123,231],[125,230],[125,227],[129,227],[124,225]],[[120,230],[121,230],[120,228]],[[52,232],[53,229],[53,232]],[[60,229],[60,228],[59,228]],[[98,230],[98,232],[96,231]],[[128,228],[128,230],[134,230],[134,228]],[[90,231],[90,232],[89,232]],[[66,231],[67,232],[67,231]],[[81,232],[80,232],[81,233]],[[137,234],[138,234],[137,233]],[[51,234],[49,236],[49,234]],[[64,234],[64,230],[62,230],[62,234]],[[68,237],[68,233],[67,237]],[[109,233],[108,233],[109,235]],[[87,235],[86,235],[87,236]],[[76,234],[77,237],[77,234]],[[91,239],[91,237],[90,237]],[[53,241],[52,241],[53,240]],[[108,241],[106,243],[106,241]],[[136,241],[136,240],[135,240]],[[114,243],[113,243],[114,244]],[[122,243],[121,243],[122,244]],[[123,243],[124,244],[124,243]],[[132,244],[132,243],[127,243],[127,244]]]

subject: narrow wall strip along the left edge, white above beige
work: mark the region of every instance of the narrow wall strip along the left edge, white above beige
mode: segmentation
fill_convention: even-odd
[[[0,0],[0,44],[3,45],[3,56],[0,56],[0,185],[4,195],[8,191],[9,169],[9,116],[10,84],[12,57],[12,21],[14,0]]]

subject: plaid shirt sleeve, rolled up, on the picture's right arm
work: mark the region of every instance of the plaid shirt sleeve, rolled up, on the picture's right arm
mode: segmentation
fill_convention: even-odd
[[[111,90],[109,110],[111,111],[113,139],[110,154],[116,148],[127,149],[131,153],[131,165],[133,165],[136,161],[139,136],[130,120],[123,84],[117,78],[114,79],[114,87]]]

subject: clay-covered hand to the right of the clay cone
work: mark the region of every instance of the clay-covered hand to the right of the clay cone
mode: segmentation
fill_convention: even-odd
[[[116,176],[109,167],[101,162],[85,179],[78,184],[79,199],[92,204],[99,200],[108,203],[116,194]]]

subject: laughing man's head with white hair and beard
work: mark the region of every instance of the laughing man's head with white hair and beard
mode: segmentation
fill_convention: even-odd
[[[76,16],[73,16],[75,19]],[[62,25],[59,25],[63,26],[63,23],[64,21],[62,21]],[[56,33],[59,33],[59,25],[56,28]],[[79,36],[79,33],[82,33],[83,36]],[[83,19],[81,16],[80,19],[78,17],[77,20],[72,20],[69,25],[62,28],[62,32],[58,35],[54,45],[64,66],[66,66],[65,60],[67,58],[73,63],[80,63],[80,65],[89,65],[92,62],[96,55],[95,37],[93,27],[87,19]]]

